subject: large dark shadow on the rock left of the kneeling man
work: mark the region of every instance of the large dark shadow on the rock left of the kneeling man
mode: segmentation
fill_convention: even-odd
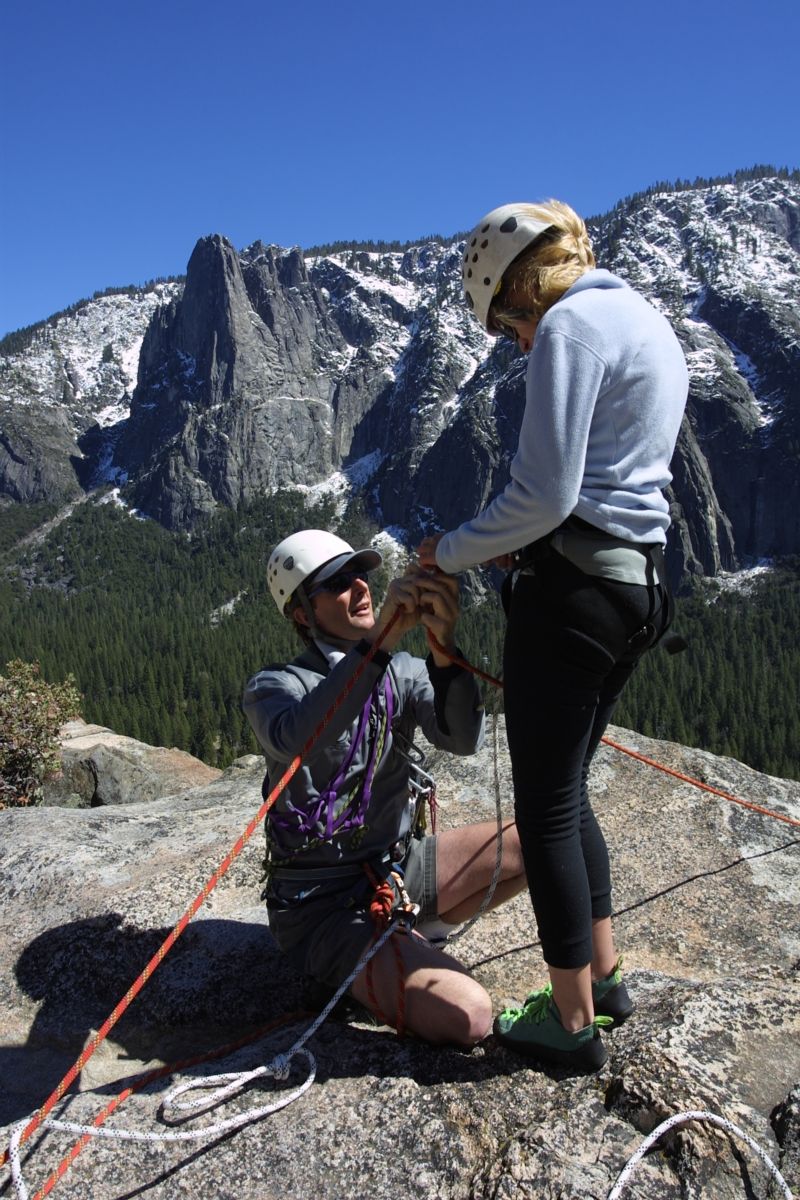
[[[14,974],[38,1002],[24,1046],[0,1048],[0,1122],[41,1104],[101,1027],[169,929],[139,930],[119,913],[71,922],[36,937]],[[196,919],[88,1063],[84,1087],[144,1063],[211,1049],[301,1007],[302,984],[265,925]]]

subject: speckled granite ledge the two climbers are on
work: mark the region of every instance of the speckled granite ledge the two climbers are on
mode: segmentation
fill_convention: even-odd
[[[798,784],[627,731],[609,736],[673,770],[800,817]],[[493,815],[492,740],[474,758],[431,756],[446,826]],[[131,752],[106,746],[110,757]],[[146,758],[148,748],[139,754]],[[509,776],[500,727],[497,778],[506,811]],[[247,758],[203,787],[167,779],[169,794],[146,803],[0,812],[5,1134],[49,1096],[210,877],[258,810],[260,778],[260,760]],[[604,1200],[644,1134],[688,1109],[741,1127],[796,1190],[796,827],[610,745],[599,755],[593,802],[612,852],[615,928],[637,1003],[610,1037],[599,1075],[541,1068],[491,1038],[465,1054],[329,1019],[309,1042],[317,1080],[295,1103],[199,1148],[95,1142],[59,1194],[393,1200],[402,1181],[404,1194],[420,1200]],[[64,1103],[68,1120],[91,1122],[120,1091],[116,1081],[145,1066],[231,1043],[302,1004],[303,980],[266,928],[260,859],[259,830],[90,1058]],[[485,917],[453,949],[498,1009],[543,979],[527,896]],[[179,1078],[270,1062],[308,1022],[283,1026]],[[206,1123],[269,1103],[273,1086],[300,1082],[301,1066],[296,1060],[289,1084],[257,1086]],[[152,1082],[112,1123],[163,1128],[156,1112],[167,1087],[166,1080]],[[73,1140],[35,1135],[23,1156],[29,1187],[41,1186]],[[693,1123],[648,1156],[625,1195],[738,1200],[780,1194],[771,1188],[744,1144]]]

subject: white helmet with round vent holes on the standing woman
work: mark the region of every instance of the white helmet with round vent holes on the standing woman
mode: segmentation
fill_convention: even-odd
[[[503,204],[479,221],[467,239],[462,268],[464,295],[489,332],[489,305],[500,290],[504,272],[527,246],[551,228],[552,223],[530,216],[529,204]]]

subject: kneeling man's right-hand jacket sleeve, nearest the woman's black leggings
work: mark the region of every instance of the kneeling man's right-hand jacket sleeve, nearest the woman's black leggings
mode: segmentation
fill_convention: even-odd
[[[480,750],[485,713],[475,676],[455,665],[438,667],[431,655],[427,661],[403,658],[409,664],[409,702],[427,740],[456,755]]]

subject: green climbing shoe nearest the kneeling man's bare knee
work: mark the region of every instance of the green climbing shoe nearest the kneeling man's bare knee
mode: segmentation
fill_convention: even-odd
[[[609,1018],[596,1016],[577,1033],[565,1030],[549,989],[543,988],[524,1008],[504,1009],[494,1021],[494,1036],[518,1054],[590,1072],[599,1070],[608,1057],[600,1039],[603,1025],[610,1025]]]

